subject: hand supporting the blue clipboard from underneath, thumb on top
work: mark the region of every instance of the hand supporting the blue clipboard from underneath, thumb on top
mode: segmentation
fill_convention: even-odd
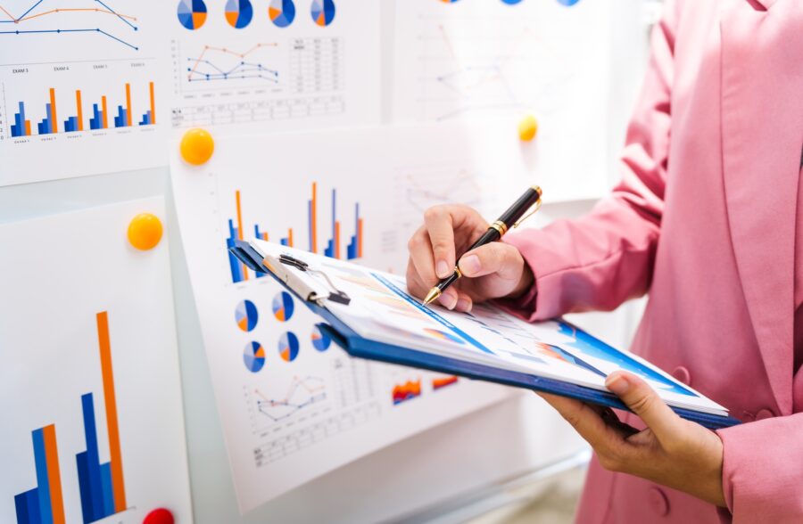
[[[723,446],[716,433],[680,418],[632,373],[611,373],[605,385],[641,417],[645,430],[620,422],[608,407],[539,395],[591,444],[606,470],[629,473],[724,506]]]

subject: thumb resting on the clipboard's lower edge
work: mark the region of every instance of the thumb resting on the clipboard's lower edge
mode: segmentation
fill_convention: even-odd
[[[647,382],[633,373],[610,373],[605,387],[621,398],[633,413],[639,415],[658,440],[674,436],[683,430],[683,420],[677,413],[658,397],[658,393]]]

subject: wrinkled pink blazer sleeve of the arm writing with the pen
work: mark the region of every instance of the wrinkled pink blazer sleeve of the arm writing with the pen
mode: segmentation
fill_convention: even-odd
[[[502,305],[531,321],[611,310],[648,291],[666,189],[675,2],[651,36],[650,64],[619,162],[621,182],[584,217],[509,234],[535,285]]]

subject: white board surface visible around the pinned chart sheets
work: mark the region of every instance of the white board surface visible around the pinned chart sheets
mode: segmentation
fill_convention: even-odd
[[[646,28],[636,9],[640,0],[614,7],[621,27],[614,31],[613,63],[626,86],[637,83],[646,43]],[[383,48],[392,43],[393,3],[382,3]],[[389,49],[385,49],[389,51]],[[385,53],[387,55],[387,53]],[[626,58],[626,60],[625,60]],[[617,60],[618,59],[618,60]],[[632,63],[633,68],[622,64]],[[384,61],[382,73],[392,92],[392,62]],[[391,93],[383,96],[383,121],[391,118]],[[611,151],[621,141],[623,122],[633,94],[617,91],[610,106]],[[606,176],[613,178],[613,155]],[[128,171],[115,175],[87,176],[48,184],[0,188],[0,222],[46,216],[93,205],[167,194],[166,168]],[[540,223],[556,217],[576,216],[591,202],[547,206]],[[170,207],[170,203],[169,203]],[[414,514],[476,487],[499,483],[519,473],[541,467],[583,448],[559,418],[530,396],[486,409],[436,430],[410,438],[396,446],[368,455],[356,463],[278,498],[244,518],[239,517],[236,497],[222,440],[222,427],[214,409],[208,364],[203,357],[200,326],[193,293],[186,276],[187,261],[178,242],[175,214],[169,209],[167,226],[173,232],[170,259],[174,275],[178,343],[184,392],[187,447],[195,520],[198,522],[372,522]],[[584,315],[579,323],[615,345],[625,343],[633,314]],[[573,319],[577,320],[577,319]],[[512,431],[511,428],[518,430]],[[471,457],[467,460],[466,457]],[[393,475],[377,482],[377,471]],[[370,494],[370,495],[366,495]],[[403,494],[400,495],[400,494]]]

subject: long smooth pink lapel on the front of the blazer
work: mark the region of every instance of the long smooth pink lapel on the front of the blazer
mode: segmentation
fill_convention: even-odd
[[[722,147],[731,238],[777,405],[791,413],[795,212],[803,143],[798,0],[723,12]],[[725,348],[725,350],[727,350]]]

